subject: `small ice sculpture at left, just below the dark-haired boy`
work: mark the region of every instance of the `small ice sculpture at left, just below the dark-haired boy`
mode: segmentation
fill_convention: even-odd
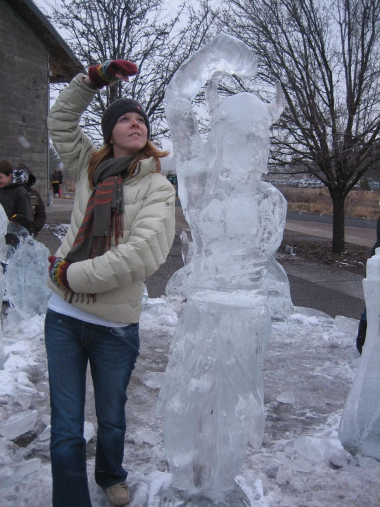
[[[8,233],[16,235],[20,241],[5,272],[5,291],[10,307],[21,319],[44,314],[51,293],[47,287],[49,250],[25,228],[13,222],[8,225]]]

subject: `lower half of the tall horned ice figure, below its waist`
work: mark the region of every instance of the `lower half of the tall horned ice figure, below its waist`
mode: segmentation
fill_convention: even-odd
[[[228,493],[248,442],[263,438],[261,364],[272,322],[259,294],[203,292],[189,298],[158,398],[174,488]]]

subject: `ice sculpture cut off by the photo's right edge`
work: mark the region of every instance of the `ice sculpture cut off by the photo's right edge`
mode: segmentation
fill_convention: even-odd
[[[367,335],[338,436],[344,448],[380,460],[380,248],[367,261],[363,280]]]

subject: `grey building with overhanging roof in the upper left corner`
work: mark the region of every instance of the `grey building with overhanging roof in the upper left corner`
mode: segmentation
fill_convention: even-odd
[[[83,68],[32,0],[0,0],[0,59],[0,159],[28,165],[46,202],[49,83]]]

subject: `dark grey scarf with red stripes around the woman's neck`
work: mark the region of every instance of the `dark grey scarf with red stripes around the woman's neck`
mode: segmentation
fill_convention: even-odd
[[[116,244],[119,237],[123,237],[123,181],[128,176],[132,158],[110,158],[95,169],[95,189],[65,261],[79,262],[103,255],[110,249],[113,236]]]

